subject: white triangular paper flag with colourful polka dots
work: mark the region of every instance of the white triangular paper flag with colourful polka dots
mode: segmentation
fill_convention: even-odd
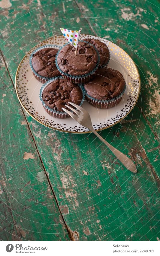
[[[60,27],[60,30],[62,31],[62,34],[65,36],[67,41],[75,48],[77,48],[81,30],[69,30],[62,27]]]

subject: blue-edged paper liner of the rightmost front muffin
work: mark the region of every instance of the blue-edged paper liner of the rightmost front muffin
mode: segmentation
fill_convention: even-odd
[[[121,100],[122,100],[122,96],[125,92],[126,89],[126,83],[125,83],[125,87],[122,91],[121,94],[119,94],[119,96],[111,99],[111,100],[98,100],[93,98],[92,96],[90,96],[86,90],[85,90],[85,95],[86,95],[86,99],[89,101],[89,103],[91,103],[92,106],[97,107],[99,109],[109,109],[112,108],[114,106],[116,106]]]

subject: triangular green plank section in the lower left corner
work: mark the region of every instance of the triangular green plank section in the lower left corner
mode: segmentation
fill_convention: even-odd
[[[0,63],[0,238],[70,240],[5,63]]]

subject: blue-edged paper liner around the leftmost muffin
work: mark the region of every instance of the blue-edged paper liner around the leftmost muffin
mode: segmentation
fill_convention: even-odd
[[[44,45],[44,46],[41,46],[39,48],[37,48],[34,52],[32,52],[31,56],[30,56],[30,59],[29,59],[29,64],[30,64],[30,67],[32,69],[32,73],[33,75],[35,76],[35,78],[40,81],[41,83],[46,83],[48,81],[48,79],[50,78],[47,78],[47,77],[43,77],[41,75],[39,75],[37,72],[35,72],[34,68],[32,67],[32,58],[33,58],[33,54],[35,54],[36,52],[38,52],[39,50],[41,49],[44,49],[44,48],[59,48],[60,46],[57,46],[57,45],[54,45],[54,44],[47,44],[47,45]],[[58,50],[58,49],[57,49]],[[60,76],[57,76],[57,77],[52,77],[52,78],[59,78]]]

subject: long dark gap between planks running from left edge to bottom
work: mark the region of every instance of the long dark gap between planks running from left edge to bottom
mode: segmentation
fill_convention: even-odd
[[[4,58],[4,55],[3,55],[2,51],[1,51],[1,49],[0,49],[0,53],[1,53],[2,58],[3,58],[3,61],[4,61],[4,63],[5,63],[5,67],[6,67],[7,71],[8,71],[8,74],[9,74],[10,80],[11,80],[11,82],[12,82],[12,85],[13,85],[13,87],[14,87],[14,82],[13,82],[13,80],[12,80],[12,78],[11,78],[10,73],[9,73],[9,70],[8,70],[7,65],[6,65],[5,58]],[[14,87],[14,90],[15,90],[15,87]],[[19,104],[20,104],[20,103],[19,103]],[[41,155],[40,155],[40,153],[39,153],[39,151],[38,151],[38,148],[37,148],[37,145],[36,145],[36,142],[35,142],[35,138],[34,138],[34,136],[33,136],[33,134],[32,134],[32,131],[31,131],[31,129],[30,129],[29,123],[28,123],[28,121],[27,121],[27,119],[26,119],[26,116],[25,116],[25,114],[24,114],[24,110],[23,110],[23,107],[21,106],[21,104],[20,104],[20,108],[22,109],[22,113],[23,113],[24,118],[25,118],[25,120],[26,120],[26,124],[27,124],[27,126],[28,126],[28,128],[29,128],[29,131],[30,131],[30,133],[31,133],[32,139],[33,139],[34,144],[35,144],[35,148],[36,148],[36,150],[37,150],[37,153],[38,153],[38,156],[39,156],[39,158],[40,158],[41,164],[42,164],[42,166],[43,166],[45,175],[47,176],[47,180],[48,180],[48,183],[49,183],[49,185],[50,185],[50,189],[51,189],[51,191],[52,191],[52,193],[53,193],[53,197],[54,197],[54,199],[55,199],[55,201],[56,201],[56,204],[57,204],[57,207],[58,207],[58,209],[59,209],[60,215],[61,215],[61,217],[62,217],[63,223],[64,223],[64,225],[65,225],[65,228],[66,228],[67,232],[68,232],[69,238],[71,239],[71,241],[76,241],[76,240],[79,239],[79,234],[78,234],[77,231],[72,231],[72,230],[68,227],[67,223],[65,222],[65,219],[64,219],[64,217],[63,217],[62,211],[61,211],[61,209],[60,209],[60,207],[59,207],[59,204],[58,204],[58,201],[57,201],[57,198],[56,198],[56,194],[54,193],[54,190],[53,190],[53,188],[52,188],[52,184],[51,184],[51,182],[50,182],[50,179],[49,179],[49,176],[48,176],[48,174],[47,174],[47,171],[46,171],[46,169],[45,169],[45,167],[44,167],[43,160],[42,160],[42,158],[41,158]],[[76,237],[76,238],[75,238],[75,237]]]

